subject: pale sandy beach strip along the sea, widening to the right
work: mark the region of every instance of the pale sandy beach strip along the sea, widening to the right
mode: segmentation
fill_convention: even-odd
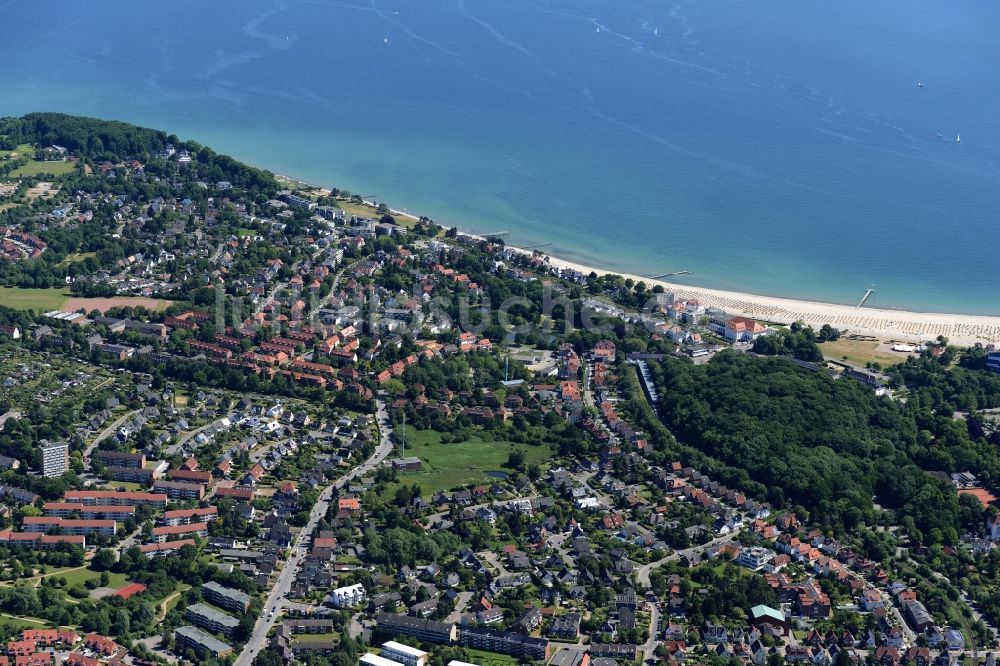
[[[293,180],[308,187],[316,185],[305,183],[298,178],[275,174],[288,180]],[[377,207],[377,202],[362,200],[371,208]],[[396,217],[406,217],[418,221],[419,216],[413,213],[389,207],[389,212]],[[483,238],[475,233],[461,232],[463,235]],[[512,250],[525,254],[536,251],[508,245]],[[965,315],[943,312],[917,312],[913,310],[891,310],[886,308],[858,308],[852,305],[826,303],[806,299],[787,298],[783,296],[763,296],[747,292],[711,289],[708,287],[693,287],[665,280],[651,280],[632,273],[614,271],[596,266],[588,266],[561,257],[541,253],[548,258],[548,264],[553,268],[567,268],[584,274],[621,275],[636,282],[645,282],[651,286],[660,285],[664,290],[682,299],[698,299],[705,305],[717,307],[733,315],[761,319],[779,324],[791,324],[801,321],[815,329],[823,324],[830,324],[837,329],[846,329],[848,334],[869,335],[878,338],[894,339],[906,342],[924,342],[935,340],[943,335],[957,345],[974,345],[976,343],[1000,343],[1000,316],[995,315]]]

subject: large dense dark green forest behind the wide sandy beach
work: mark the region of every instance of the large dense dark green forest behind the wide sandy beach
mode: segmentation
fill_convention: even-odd
[[[702,366],[668,358],[650,369],[677,439],[745,470],[740,485],[758,497],[798,505],[836,531],[870,523],[876,503],[925,543],[956,543],[979,528],[982,511],[927,472],[971,469],[995,483],[995,444],[953,415],[958,404],[1000,399],[1000,381],[985,372],[912,360],[896,371],[912,386],[903,403],[783,359],[734,352]]]

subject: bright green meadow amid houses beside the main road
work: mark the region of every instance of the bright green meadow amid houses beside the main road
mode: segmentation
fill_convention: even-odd
[[[547,446],[528,446],[512,442],[484,441],[474,438],[457,444],[443,444],[441,433],[407,428],[406,455],[417,456],[424,463],[420,471],[404,472],[401,482],[417,483],[425,493],[451,490],[469,483],[494,481],[486,472],[511,472],[504,464],[515,448],[524,453],[528,465],[542,463],[552,456]]]

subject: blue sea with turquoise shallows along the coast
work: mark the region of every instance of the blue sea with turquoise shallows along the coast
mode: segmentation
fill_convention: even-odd
[[[996,0],[0,0],[0,114],[608,268],[1000,314],[998,36]]]

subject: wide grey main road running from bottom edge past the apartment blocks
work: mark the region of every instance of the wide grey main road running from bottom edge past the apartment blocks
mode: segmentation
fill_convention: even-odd
[[[323,493],[320,495],[320,499],[313,506],[312,512],[309,514],[309,522],[306,523],[306,526],[302,528],[302,531],[299,532],[299,535],[292,543],[291,555],[285,562],[284,567],[281,569],[277,582],[274,584],[274,587],[271,588],[271,593],[267,595],[267,600],[264,602],[264,612],[261,613],[261,616],[257,619],[257,624],[255,624],[253,628],[253,634],[250,636],[250,640],[247,641],[247,644],[243,647],[243,651],[240,653],[240,656],[237,657],[235,666],[250,666],[253,663],[254,658],[267,643],[267,634],[274,626],[276,618],[281,615],[281,610],[286,604],[288,592],[292,587],[292,582],[295,580],[299,567],[305,559],[304,546],[312,536],[320,518],[326,515],[327,508],[330,505],[330,497],[333,494],[333,489],[342,488],[355,477],[363,476],[372,472],[379,465],[379,463],[385,460],[385,458],[392,453],[392,426],[389,424],[389,413],[386,410],[385,402],[383,402],[381,398],[376,400],[376,404],[378,406],[376,418],[378,419],[380,432],[378,448],[375,449],[375,453],[373,453],[368,460],[363,462],[358,467],[355,467],[353,470],[340,477],[323,490]]]

